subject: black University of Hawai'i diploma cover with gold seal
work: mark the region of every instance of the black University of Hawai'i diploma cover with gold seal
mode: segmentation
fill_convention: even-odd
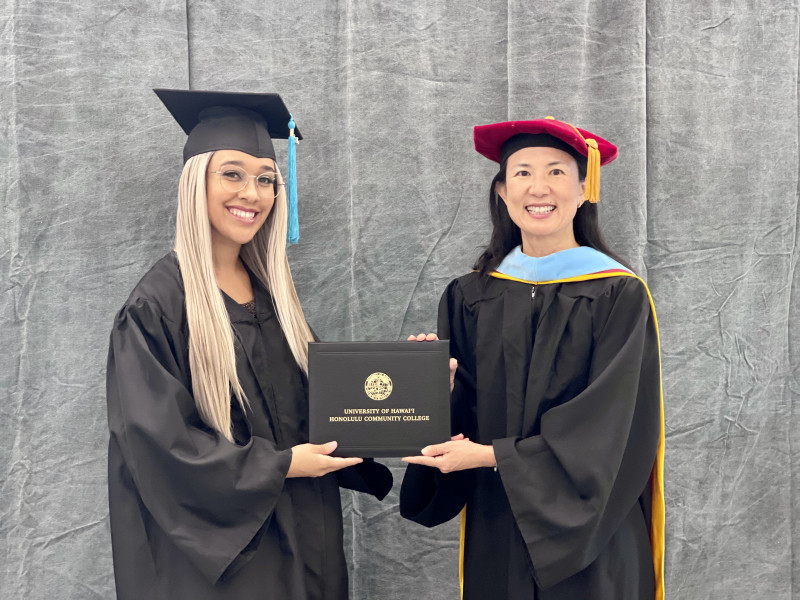
[[[450,439],[450,343],[312,342],[309,437],[334,456],[413,456]]]

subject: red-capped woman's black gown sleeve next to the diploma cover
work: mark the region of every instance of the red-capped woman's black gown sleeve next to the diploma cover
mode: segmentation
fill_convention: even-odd
[[[471,347],[467,339],[470,328],[464,326],[464,304],[453,300],[455,287],[456,281],[452,281],[439,302],[438,335],[450,340],[450,356],[458,361],[450,402],[451,433],[474,437],[474,355],[462,351]],[[400,488],[400,514],[426,527],[449,521],[464,508],[472,479],[471,471],[444,474],[433,467],[408,465]]]

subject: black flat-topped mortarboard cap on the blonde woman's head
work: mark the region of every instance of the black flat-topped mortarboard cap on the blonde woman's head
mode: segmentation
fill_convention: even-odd
[[[291,115],[278,94],[153,90],[189,136],[183,161],[215,150],[275,160],[271,138],[287,139]],[[294,135],[303,136],[297,128]]]

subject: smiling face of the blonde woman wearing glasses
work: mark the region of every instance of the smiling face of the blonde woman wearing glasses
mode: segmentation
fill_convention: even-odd
[[[208,221],[214,248],[220,245],[241,247],[248,243],[267,220],[275,203],[271,191],[259,194],[253,177],[248,177],[247,184],[238,192],[226,191],[222,178],[230,180],[237,177],[236,169],[247,175],[276,176],[275,161],[271,158],[256,158],[238,150],[218,150],[214,153],[206,170]]]

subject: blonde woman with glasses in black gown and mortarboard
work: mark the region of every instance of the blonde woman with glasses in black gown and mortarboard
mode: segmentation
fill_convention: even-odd
[[[117,597],[345,600],[339,486],[383,498],[392,478],[307,443],[313,334],[269,135],[294,125],[274,94],[157,93],[189,138],[175,250],[111,332]]]

